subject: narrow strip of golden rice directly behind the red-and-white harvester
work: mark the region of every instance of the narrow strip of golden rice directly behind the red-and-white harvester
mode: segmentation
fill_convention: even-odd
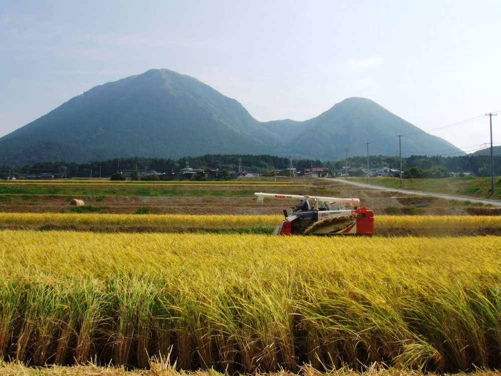
[[[95,213],[0,213],[0,228],[93,230],[98,232],[261,232],[272,233],[279,215],[126,215]],[[498,216],[387,216],[375,219],[375,233],[453,235],[499,234]]]

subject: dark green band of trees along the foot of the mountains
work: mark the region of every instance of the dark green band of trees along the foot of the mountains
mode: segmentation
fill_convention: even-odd
[[[166,178],[181,168],[210,168],[228,171],[238,171],[241,163],[242,171],[267,173],[289,168],[291,160],[286,157],[272,155],[236,155],[236,154],[206,154],[192,157],[186,156],[178,160],[164,158],[115,158],[92,163],[75,162],[44,162],[32,163],[23,167],[12,167],[6,164],[0,170],[0,175],[20,176],[37,173],[52,173],[56,178],[70,177],[109,177],[122,169],[146,169],[165,173]],[[367,157],[357,156],[347,159],[348,166],[366,167]],[[311,167],[328,167],[335,173],[345,166],[345,160],[325,161],[319,159],[292,159],[292,165],[297,171]],[[400,169],[398,156],[369,156],[369,168],[388,166]],[[0,167],[1,168],[1,167]],[[402,158],[402,168],[408,177],[445,177],[449,172],[469,172],[475,176],[490,176],[490,156],[463,155],[453,157],[416,156]],[[501,175],[501,156],[494,156],[494,174]]]

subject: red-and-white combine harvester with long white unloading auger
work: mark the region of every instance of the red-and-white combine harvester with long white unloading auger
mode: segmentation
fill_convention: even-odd
[[[258,203],[265,198],[304,200],[311,210],[290,215],[284,210],[285,221],[277,226],[275,235],[372,235],[374,234],[374,212],[360,207],[359,199],[339,199],[336,197],[308,195],[279,195],[255,193]]]

